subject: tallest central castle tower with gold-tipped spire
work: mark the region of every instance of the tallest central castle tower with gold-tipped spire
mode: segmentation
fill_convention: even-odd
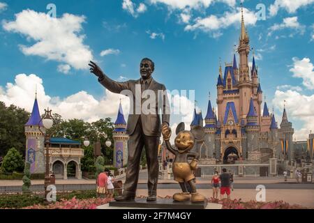
[[[239,111],[240,120],[246,122],[246,114],[248,112],[251,95],[252,95],[252,82],[249,77],[248,70],[248,54],[250,53],[248,33],[246,33],[246,28],[244,25],[243,8],[241,7],[241,34],[239,38],[238,53],[240,57],[239,65]]]

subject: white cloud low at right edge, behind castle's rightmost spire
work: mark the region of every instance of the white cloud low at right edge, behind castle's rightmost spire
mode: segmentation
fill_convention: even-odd
[[[273,105],[283,111],[283,100],[286,101],[288,118],[301,120],[304,125],[299,130],[295,130],[294,137],[297,140],[304,140],[314,126],[314,95],[303,95],[297,91],[276,90]],[[291,121],[291,120],[290,120]]]

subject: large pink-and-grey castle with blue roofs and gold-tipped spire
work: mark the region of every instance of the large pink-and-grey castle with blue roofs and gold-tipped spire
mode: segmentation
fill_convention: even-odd
[[[200,125],[206,132],[195,149],[202,159],[215,158],[223,163],[235,160],[265,163],[273,157],[294,160],[292,123],[284,109],[281,128],[278,128],[274,112],[269,114],[267,102],[263,103],[254,55],[252,68],[248,65],[249,42],[242,12],[237,47],[239,64],[234,54],[232,63],[225,64],[224,73],[220,65],[216,85],[218,109],[214,111],[209,99],[204,126],[202,113],[194,111],[191,128]]]

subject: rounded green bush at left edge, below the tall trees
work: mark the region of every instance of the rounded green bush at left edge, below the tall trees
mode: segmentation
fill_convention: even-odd
[[[1,165],[2,171],[13,173],[13,171],[22,171],[23,167],[24,161],[22,155],[15,148],[10,148],[3,158]]]

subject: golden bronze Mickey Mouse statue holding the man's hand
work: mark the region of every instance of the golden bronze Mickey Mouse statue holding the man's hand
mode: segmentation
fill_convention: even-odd
[[[190,152],[195,144],[195,139],[204,137],[204,130],[200,126],[193,127],[190,131],[184,130],[184,123],[179,123],[177,126],[177,137],[174,139],[175,148],[170,144],[171,129],[163,125],[163,139],[167,149],[175,155],[172,163],[172,172],[174,180],[176,180],[182,192],[173,194],[174,201],[192,201],[201,202],[205,200],[202,194],[196,192],[195,176],[193,170],[197,169],[198,153]],[[188,157],[193,157],[191,162],[188,162]],[[186,183],[190,186],[190,192],[186,189]]]

